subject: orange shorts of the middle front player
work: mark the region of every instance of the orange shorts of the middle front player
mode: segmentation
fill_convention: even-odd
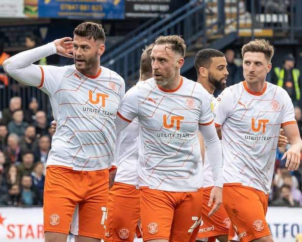
[[[202,189],[172,192],[141,188],[143,240],[189,241],[200,224],[201,209]]]

